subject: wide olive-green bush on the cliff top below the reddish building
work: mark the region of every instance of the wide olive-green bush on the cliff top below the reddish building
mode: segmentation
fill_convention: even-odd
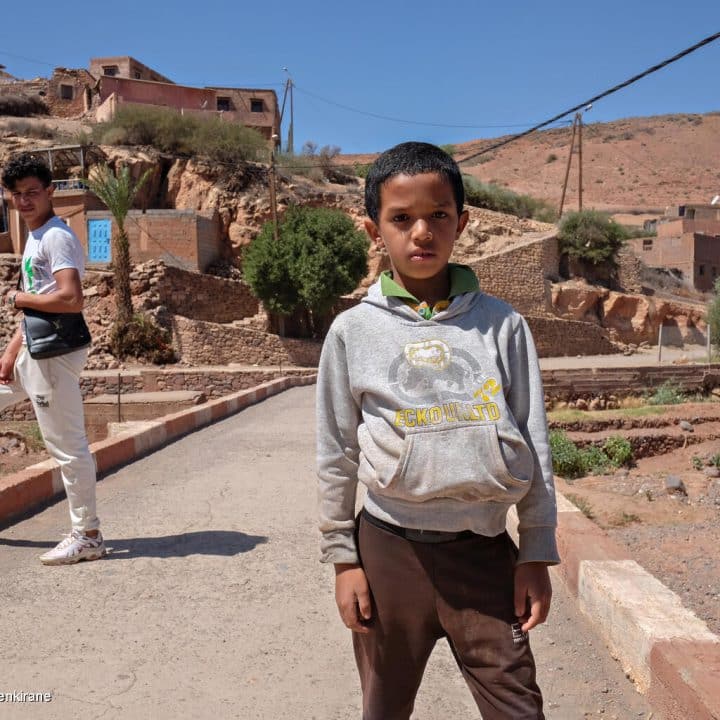
[[[101,145],[151,145],[223,163],[266,159],[269,153],[265,138],[244,125],[153,106],[122,106],[111,121],[98,124],[93,135]]]

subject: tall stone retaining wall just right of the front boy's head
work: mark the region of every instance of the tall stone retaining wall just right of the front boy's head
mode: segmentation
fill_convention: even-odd
[[[555,233],[529,239],[507,252],[483,256],[471,267],[482,290],[523,315],[552,315],[550,282],[558,277]]]

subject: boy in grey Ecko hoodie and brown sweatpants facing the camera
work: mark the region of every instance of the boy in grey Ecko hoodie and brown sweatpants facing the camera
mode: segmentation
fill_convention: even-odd
[[[527,634],[559,562],[543,391],[523,318],[448,262],[463,203],[433,145],[375,161],[365,229],[392,270],[335,320],[320,360],[322,560],[353,631],[363,720],[408,720],[441,637],[484,720],[544,717]]]

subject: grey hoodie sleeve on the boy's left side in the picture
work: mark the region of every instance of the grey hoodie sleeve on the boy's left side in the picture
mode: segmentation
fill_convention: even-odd
[[[317,382],[317,471],[322,562],[356,564],[355,492],[360,407],[353,397],[339,323],[323,345]]]

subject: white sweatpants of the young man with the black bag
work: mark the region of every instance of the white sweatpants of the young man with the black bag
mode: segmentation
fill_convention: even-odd
[[[33,360],[23,347],[15,378],[32,402],[45,447],[60,465],[74,530],[100,527],[95,509],[95,460],[85,433],[80,373],[88,350],[82,348],[44,360]]]

